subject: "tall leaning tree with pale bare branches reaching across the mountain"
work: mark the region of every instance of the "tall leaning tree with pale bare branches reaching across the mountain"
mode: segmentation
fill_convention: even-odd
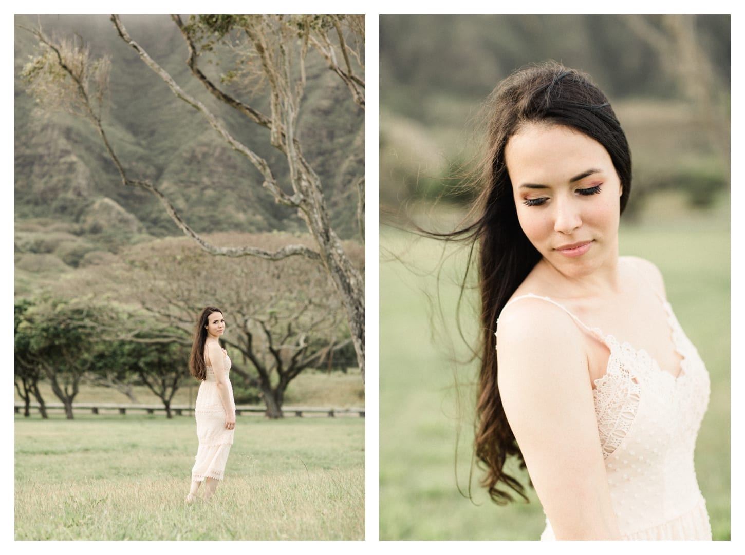
[[[266,251],[253,246],[219,247],[200,237],[176,211],[165,195],[148,180],[134,179],[118,158],[102,124],[102,107],[107,95],[107,74],[110,62],[106,58],[93,60],[82,44],[53,42],[39,27],[34,31],[42,45],[42,54],[24,68],[22,77],[37,100],[48,106],[66,107],[82,115],[95,127],[108,155],[114,162],[121,183],[140,187],[153,193],[188,237],[211,254],[228,257],[253,256],[266,260],[282,260],[299,256],[317,263],[332,278],[335,292],[346,311],[346,321],[355,346],[364,381],[364,283],[363,276],[349,259],[340,238],[329,221],[323,183],[302,152],[297,123],[302,112],[305,87],[305,63],[309,52],[320,53],[348,87],[359,109],[364,109],[364,80],[356,71],[364,72],[361,53],[346,42],[346,33],[364,41],[364,18],[359,16],[191,16],[184,24],[180,16],[172,16],[188,47],[188,67],[192,74],[214,97],[244,115],[248,121],[268,129],[272,147],[279,150],[289,167],[291,193],[285,192],[275,178],[270,164],[232,136],[226,126],[204,103],[185,92],[165,69],[127,33],[118,16],[112,22],[121,39],[134,48],[142,60],[164,80],[178,98],[196,108],[213,129],[234,150],[244,155],[261,173],[261,184],[282,205],[297,208],[298,216],[314,238],[315,248],[302,245],[283,246],[278,251]],[[333,38],[332,38],[333,37]],[[206,77],[197,64],[203,51],[215,51],[230,45],[238,51],[238,59],[255,57],[257,68],[253,77],[266,83],[270,92],[270,115],[264,115],[249,104],[223,92]],[[337,50],[340,54],[337,54]],[[339,57],[343,62],[339,61]],[[356,62],[356,63],[355,63]],[[355,70],[355,67],[358,70]],[[228,71],[227,76],[235,76]],[[358,176],[352,186],[358,189],[358,222],[364,235],[364,176]],[[285,187],[286,188],[286,187]]]

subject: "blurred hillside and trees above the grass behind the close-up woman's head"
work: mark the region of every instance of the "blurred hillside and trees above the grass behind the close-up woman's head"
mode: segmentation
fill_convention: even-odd
[[[589,73],[621,121],[627,216],[659,190],[706,206],[729,187],[729,53],[729,16],[381,16],[384,216],[447,198],[448,176],[475,155],[480,104],[515,69],[550,59]]]

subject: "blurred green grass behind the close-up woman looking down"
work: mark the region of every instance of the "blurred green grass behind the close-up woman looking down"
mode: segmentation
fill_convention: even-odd
[[[729,211],[720,205],[711,214],[668,218],[665,199],[658,201],[648,209],[653,215],[622,225],[621,254],[659,266],[708,367],[711,400],[696,469],[714,539],[729,539]],[[380,243],[380,538],[538,539],[544,516],[533,491],[529,504],[498,507],[472,467],[475,369],[453,362],[467,353],[451,323],[458,290],[451,270],[463,267],[463,255],[446,260],[438,303],[442,246],[390,230]],[[470,337],[476,319],[464,314]],[[468,492],[471,470],[469,499],[458,488]]]

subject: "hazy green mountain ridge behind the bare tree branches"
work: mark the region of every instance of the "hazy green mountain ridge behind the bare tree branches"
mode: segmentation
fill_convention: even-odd
[[[133,39],[180,86],[218,115],[236,138],[267,159],[279,184],[289,190],[287,164],[270,146],[268,130],[220,103],[191,76],[185,63],[186,45],[170,17],[122,19]],[[17,25],[31,27],[35,23],[35,16],[16,16],[16,253],[54,252],[24,250],[35,244],[38,231],[30,230],[43,227],[43,222],[47,228],[60,222],[63,233],[98,251],[115,251],[148,237],[181,234],[150,193],[121,185],[92,125],[71,115],[43,113],[24,92],[18,75],[34,55],[35,39]],[[118,37],[107,16],[42,16],[41,23],[52,36],[72,39],[77,33],[95,56],[111,57],[110,107],[104,129],[112,147],[127,172],[135,179],[153,181],[197,232],[305,231],[296,211],[274,202],[261,188],[261,174],[195,109],[171,93]],[[326,187],[337,234],[355,237],[357,195],[352,176],[364,172],[364,112],[322,60],[308,58],[299,137],[306,158]],[[221,68],[201,59],[200,66],[219,83]],[[266,92],[229,92],[269,112]],[[63,262],[75,266],[76,260],[69,257]]]

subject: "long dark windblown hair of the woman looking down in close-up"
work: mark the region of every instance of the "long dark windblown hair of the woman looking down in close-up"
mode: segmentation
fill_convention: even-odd
[[[472,223],[445,235],[466,240],[478,251],[481,371],[474,453],[486,470],[482,485],[493,501],[506,504],[513,501],[513,496],[498,486],[506,485],[527,497],[523,485],[503,470],[504,462],[511,456],[519,458],[522,468],[525,463],[497,387],[496,322],[541,255],[520,227],[504,149],[522,126],[536,122],[570,127],[595,139],[609,153],[621,181],[621,212],[631,191],[631,153],[605,94],[588,75],[557,62],[523,68],[502,80],[489,97],[486,109],[486,153],[477,177],[481,193],[469,214]]]

